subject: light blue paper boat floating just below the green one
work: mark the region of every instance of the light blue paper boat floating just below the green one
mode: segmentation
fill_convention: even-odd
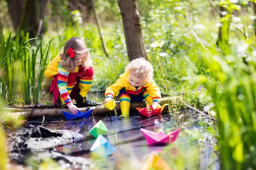
[[[108,142],[102,135],[99,135],[90,151],[96,153],[98,156],[108,157],[116,151],[115,147]]]

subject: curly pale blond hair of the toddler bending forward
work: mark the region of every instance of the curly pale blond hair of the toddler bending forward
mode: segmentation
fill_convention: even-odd
[[[125,71],[133,72],[135,78],[151,82],[153,79],[153,65],[145,58],[137,58],[129,62]]]

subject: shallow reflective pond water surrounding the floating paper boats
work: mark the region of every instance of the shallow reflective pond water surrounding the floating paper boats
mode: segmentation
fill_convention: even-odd
[[[212,123],[203,118],[198,122],[198,115],[189,112],[179,116],[166,114],[141,119],[138,113],[126,118],[106,115],[106,117],[90,117],[76,121],[61,121],[46,128],[66,129],[76,132],[73,142],[56,147],[65,155],[93,158],[94,166],[100,169],[133,169],[143,166],[148,154],[152,151],[161,157],[172,169],[220,169],[218,158],[213,150],[215,140],[207,129],[214,130]],[[104,136],[116,148],[116,152],[106,159],[97,159],[90,155],[90,147],[95,138],[88,131],[102,120],[109,132]],[[148,146],[140,128],[154,132],[162,130],[171,132],[181,128],[177,140],[168,146]],[[128,168],[129,167],[129,168]]]

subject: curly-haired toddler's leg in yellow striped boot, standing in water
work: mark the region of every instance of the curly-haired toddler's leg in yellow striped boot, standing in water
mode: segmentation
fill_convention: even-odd
[[[131,96],[125,93],[125,89],[121,89],[118,96],[119,96],[122,116],[126,117],[129,115],[129,111],[130,111]]]

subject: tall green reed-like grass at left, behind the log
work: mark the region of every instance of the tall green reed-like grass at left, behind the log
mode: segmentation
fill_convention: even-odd
[[[52,40],[44,48],[42,40],[38,42],[36,39],[29,39],[29,35],[24,35],[23,31],[19,31],[15,39],[12,33],[7,38],[2,34],[0,93],[9,105],[18,104],[17,100],[23,100],[21,104],[32,104],[32,99],[34,104],[38,104],[40,100]]]

